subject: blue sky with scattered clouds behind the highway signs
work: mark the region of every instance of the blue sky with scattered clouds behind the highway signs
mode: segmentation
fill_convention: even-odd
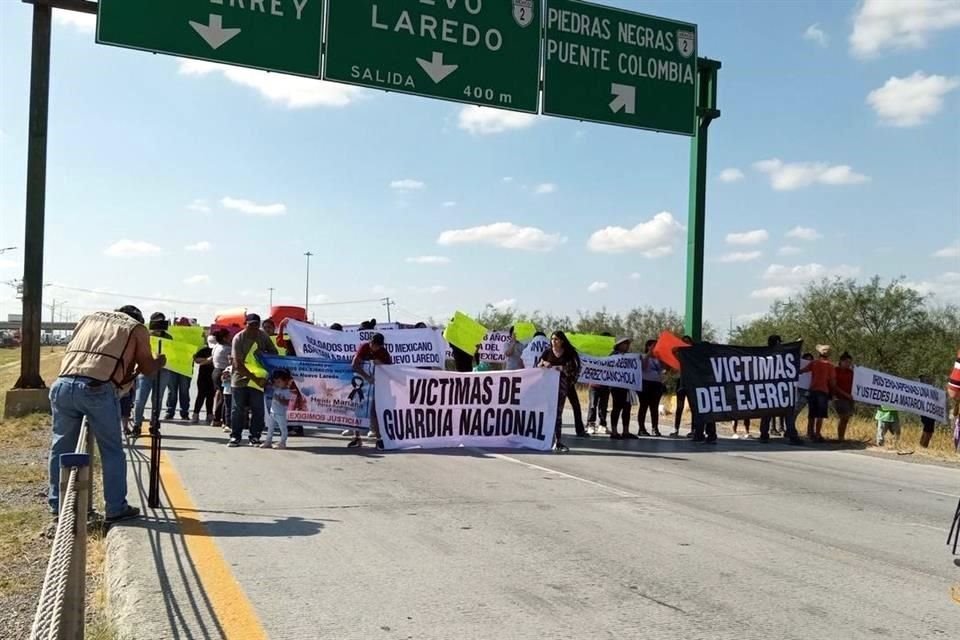
[[[708,320],[831,275],[960,302],[960,2],[606,4],[696,23],[723,62]],[[22,274],[30,13],[0,2],[0,282]],[[309,250],[314,303],[389,295],[400,320],[682,310],[689,138],[98,46],[56,13],[45,303],[302,304]]]

